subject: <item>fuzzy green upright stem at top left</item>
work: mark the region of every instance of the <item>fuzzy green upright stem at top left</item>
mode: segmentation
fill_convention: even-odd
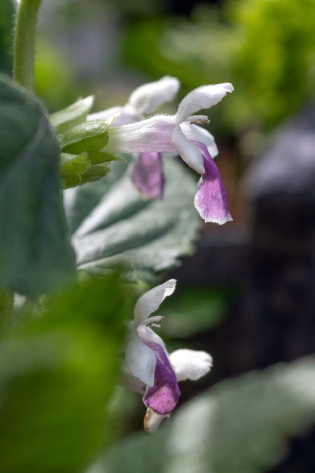
[[[14,38],[13,77],[33,90],[37,15],[41,0],[20,0]]]

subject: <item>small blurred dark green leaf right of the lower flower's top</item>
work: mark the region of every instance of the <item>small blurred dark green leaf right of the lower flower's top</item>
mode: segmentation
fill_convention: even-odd
[[[163,305],[163,332],[169,337],[185,338],[211,330],[224,318],[227,296],[227,291],[209,287],[176,291]]]

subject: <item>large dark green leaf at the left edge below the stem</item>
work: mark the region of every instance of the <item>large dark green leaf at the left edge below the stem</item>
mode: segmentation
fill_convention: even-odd
[[[0,286],[39,293],[68,277],[73,250],[59,147],[41,102],[0,75]]]

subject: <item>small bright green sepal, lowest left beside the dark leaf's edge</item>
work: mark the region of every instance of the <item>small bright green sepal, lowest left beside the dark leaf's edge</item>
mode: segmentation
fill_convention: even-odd
[[[78,156],[73,154],[61,153],[60,155],[60,175],[63,187],[74,187],[81,182],[81,175],[89,168],[90,162],[87,154],[82,153]]]

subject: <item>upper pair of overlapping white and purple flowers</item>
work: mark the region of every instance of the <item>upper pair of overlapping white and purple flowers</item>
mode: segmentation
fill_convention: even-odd
[[[133,168],[134,185],[145,198],[163,195],[164,173],[161,153],[175,153],[201,175],[195,195],[195,207],[205,222],[223,224],[232,220],[226,190],[213,158],[218,150],[213,136],[198,124],[209,123],[208,117],[195,115],[216,105],[233,91],[230,83],[205,85],[190,92],[178,106],[175,115],[153,115],[163,103],[172,100],[179,89],[174,77],[145,84],[136,89],[126,105],[89,115],[88,120],[112,119],[106,152],[136,153]]]

